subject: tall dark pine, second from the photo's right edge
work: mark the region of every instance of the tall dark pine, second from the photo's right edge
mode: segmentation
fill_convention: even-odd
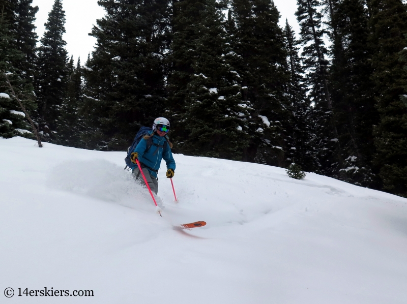
[[[371,94],[367,10],[361,0],[329,0],[327,3],[331,20],[332,104],[343,160],[331,175],[372,187],[372,127],[378,117]]]

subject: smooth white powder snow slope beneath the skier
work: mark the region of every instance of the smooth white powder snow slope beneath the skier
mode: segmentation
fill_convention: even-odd
[[[0,302],[407,302],[407,199],[175,155],[180,202],[162,163],[160,218],[124,157],[0,139]],[[18,296],[45,287],[94,296]]]

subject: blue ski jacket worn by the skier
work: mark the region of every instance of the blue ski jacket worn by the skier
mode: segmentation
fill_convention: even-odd
[[[148,151],[146,151],[147,140],[144,138],[141,138],[140,142],[133,151],[137,152],[140,163],[143,163],[146,165],[146,167],[150,167],[151,169],[158,170],[160,169],[161,160],[164,159],[165,163],[167,164],[167,169],[172,169],[175,171],[175,160],[172,157],[171,148],[169,147],[168,143],[164,145],[164,143],[167,141],[165,136],[161,137],[154,134],[152,138],[153,144]],[[162,148],[160,146],[164,147]],[[135,168],[137,168],[137,165]],[[150,175],[157,178],[157,172],[152,171],[150,168],[147,168]]]

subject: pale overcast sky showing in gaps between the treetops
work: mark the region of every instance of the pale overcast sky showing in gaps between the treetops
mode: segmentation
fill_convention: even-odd
[[[33,0],[33,6],[38,6],[36,15],[37,35],[42,37],[45,31],[44,23],[47,21],[48,13],[52,8],[54,0]],[[299,33],[299,25],[294,15],[297,10],[296,0],[274,0],[278,11],[281,14],[280,26],[284,26],[285,18],[293,26],[296,33]],[[76,60],[80,56],[83,64],[88,58],[88,53],[93,51],[96,39],[88,34],[92,31],[96,19],[103,17],[104,10],[98,6],[97,0],[63,0],[63,8],[66,14],[66,34],[64,40],[67,42],[69,56],[73,55]]]

